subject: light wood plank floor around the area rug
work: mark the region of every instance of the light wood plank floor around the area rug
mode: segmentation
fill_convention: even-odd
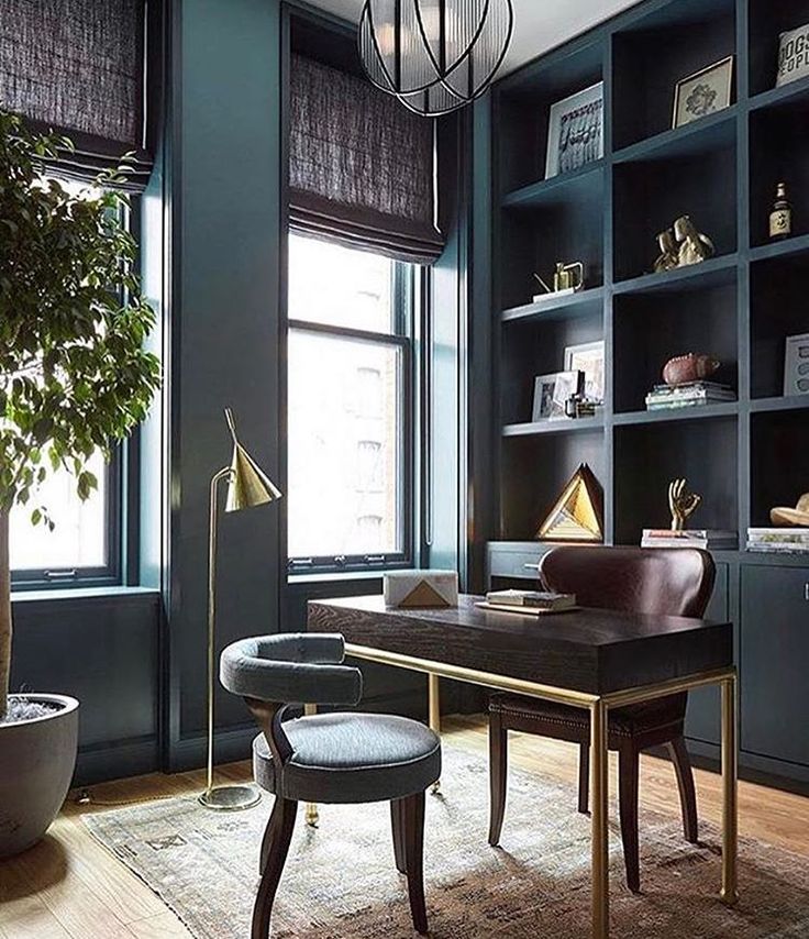
[[[486,723],[479,716],[446,719],[444,734],[456,745],[486,753]],[[576,784],[575,747],[514,733],[511,755],[514,765],[529,772]],[[250,775],[250,766],[240,763],[219,772],[241,781]],[[614,792],[614,764],[612,773]],[[201,786],[201,772],[151,775],[96,786],[96,802],[89,806],[68,802],[42,843],[0,862],[1,939],[189,939],[148,887],[90,837],[80,816],[103,811],[108,805],[102,803],[170,797]],[[718,822],[719,777],[697,771],[697,789],[700,816]],[[677,811],[668,763],[642,759],[641,800],[650,808]],[[809,857],[809,798],[742,783],[740,827],[743,835]]]

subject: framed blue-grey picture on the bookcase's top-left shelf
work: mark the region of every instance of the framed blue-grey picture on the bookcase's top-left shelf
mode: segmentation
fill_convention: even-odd
[[[603,156],[603,81],[551,106],[545,178]]]

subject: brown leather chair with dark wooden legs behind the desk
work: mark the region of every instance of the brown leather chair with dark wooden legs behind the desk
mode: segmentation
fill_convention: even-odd
[[[548,590],[576,594],[580,606],[701,619],[713,592],[716,571],[707,552],[694,549],[565,546],[540,562]],[[563,628],[561,625],[559,628]],[[684,739],[688,695],[677,694],[609,714],[609,749],[618,751],[621,838],[630,890],[641,888],[638,847],[639,755],[665,745],[674,763],[686,840],[697,842],[697,799]],[[491,808],[489,843],[500,841],[506,811],[508,731],[519,730],[578,743],[578,810],[589,806],[590,716],[567,705],[514,695],[489,704]]]

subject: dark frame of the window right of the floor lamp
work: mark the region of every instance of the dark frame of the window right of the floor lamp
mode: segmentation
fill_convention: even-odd
[[[288,236],[295,236],[289,229]],[[306,234],[298,234],[308,237]],[[340,246],[336,241],[331,242]],[[288,256],[288,253],[287,253]],[[415,301],[417,278],[420,268],[417,265],[392,262],[392,317],[389,333],[362,330],[352,327],[333,325],[330,323],[287,318],[287,336],[292,332],[307,332],[332,339],[343,339],[364,342],[370,345],[395,349],[401,356],[401,377],[399,395],[401,397],[399,413],[398,448],[402,479],[397,487],[397,527],[401,533],[401,550],[379,554],[323,554],[323,555],[290,555],[287,540],[287,572],[289,574],[333,574],[339,572],[369,572],[375,570],[396,570],[411,567],[415,544]],[[288,272],[287,272],[288,276]],[[289,408],[288,388],[285,393],[287,409]],[[288,420],[288,415],[287,415]],[[287,528],[289,522],[287,521]]]

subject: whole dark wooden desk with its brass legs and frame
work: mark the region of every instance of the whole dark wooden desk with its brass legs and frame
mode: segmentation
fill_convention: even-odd
[[[347,655],[424,672],[439,729],[439,678],[590,711],[592,936],[609,936],[608,750],[610,708],[707,685],[722,689],[722,888],[736,901],[736,673],[731,623],[580,609],[534,617],[483,610],[387,609],[383,597],[311,600],[312,632],[341,632]]]

